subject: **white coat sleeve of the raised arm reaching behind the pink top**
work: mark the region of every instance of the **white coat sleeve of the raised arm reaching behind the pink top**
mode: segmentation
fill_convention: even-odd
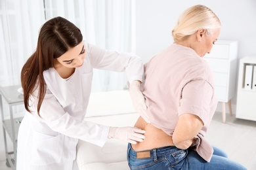
[[[142,59],[133,53],[114,52],[87,44],[87,57],[90,58],[95,69],[125,71],[129,82],[133,80],[142,82],[144,74]]]

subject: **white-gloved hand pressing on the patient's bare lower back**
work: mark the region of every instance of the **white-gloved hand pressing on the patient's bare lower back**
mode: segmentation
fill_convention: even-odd
[[[144,133],[144,130],[137,127],[110,127],[108,138],[115,138],[131,144],[137,144],[137,141],[142,142],[145,138]]]

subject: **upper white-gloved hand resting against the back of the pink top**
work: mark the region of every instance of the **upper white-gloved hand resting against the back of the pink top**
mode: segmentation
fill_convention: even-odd
[[[134,80],[131,82],[129,87],[129,93],[131,95],[131,100],[133,101],[133,107],[135,110],[139,112],[140,116],[144,118],[144,120],[150,123],[148,115],[146,114],[146,103],[143,93],[140,91],[140,81]]]

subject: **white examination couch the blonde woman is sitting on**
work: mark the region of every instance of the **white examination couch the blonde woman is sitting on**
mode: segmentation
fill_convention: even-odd
[[[128,91],[91,93],[85,120],[107,126],[134,126],[139,114],[133,108]],[[125,170],[127,143],[108,139],[103,147],[79,141],[77,165],[79,170]]]

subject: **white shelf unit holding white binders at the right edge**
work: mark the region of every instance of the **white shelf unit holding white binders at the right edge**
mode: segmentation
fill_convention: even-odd
[[[256,121],[256,56],[240,59],[236,118]]]

